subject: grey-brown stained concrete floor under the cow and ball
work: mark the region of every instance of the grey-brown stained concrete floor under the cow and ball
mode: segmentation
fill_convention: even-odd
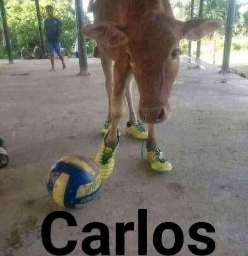
[[[65,154],[93,159],[102,141],[98,130],[106,118],[107,95],[100,61],[89,60],[90,77],[75,76],[77,59],[66,60],[65,71],[60,61],[55,64],[52,73],[49,60],[0,64],[0,132],[10,151],[9,167],[0,170],[0,256],[50,255],[41,242],[41,224],[60,208],[47,194],[47,171]],[[175,222],[184,232],[177,255],[193,255],[188,229],[203,221],[216,230],[209,234],[216,242],[212,255],[248,255],[248,80],[204,66],[187,70],[181,63],[171,118],[157,125],[159,147],[173,172],[155,175],[142,162],[141,142],[123,132],[126,110],[113,176],[96,200],[69,211],[77,228],[54,222],[54,245],[63,247],[74,238],[78,244],[70,255],[84,255],[81,242],[88,234],[81,230],[98,221],[108,226],[115,255],[115,223],[133,221],[136,231],[126,235],[125,255],[138,255],[138,209],[147,208],[150,256],[158,255],[152,234],[162,222]],[[137,103],[136,89],[133,98]],[[169,248],[173,242],[172,233],[165,232],[163,244]]]

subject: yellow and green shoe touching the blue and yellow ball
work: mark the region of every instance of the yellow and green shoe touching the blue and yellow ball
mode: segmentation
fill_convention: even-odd
[[[100,151],[97,153],[95,157],[95,161],[99,167],[99,170],[101,172],[102,179],[108,179],[109,176],[112,174],[113,169],[114,169],[114,158],[115,158],[115,153],[117,151],[119,141],[120,141],[120,133],[119,130],[117,131],[117,145],[112,148],[112,147],[107,147],[105,139],[108,135],[105,135],[103,139],[102,146],[100,148]]]

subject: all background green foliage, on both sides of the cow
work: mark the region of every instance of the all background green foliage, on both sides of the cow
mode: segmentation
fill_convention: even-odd
[[[12,34],[12,52],[14,58],[20,58],[20,51],[22,47],[26,47],[30,53],[33,52],[34,47],[39,44],[39,30],[36,16],[34,0],[4,0],[7,14],[7,22]],[[68,53],[71,55],[74,51],[74,43],[77,38],[76,21],[74,0],[39,0],[41,16],[44,21],[46,18],[46,5],[54,7],[54,15],[60,18],[62,22],[61,43],[63,48],[67,48]],[[203,17],[205,18],[218,18],[226,20],[227,15],[227,2],[228,0],[205,0]],[[177,9],[176,18],[186,21],[190,17],[191,0],[171,0],[171,5]],[[237,4],[235,13],[235,23],[233,26],[233,36],[236,38],[244,38],[248,33],[248,11],[241,15],[238,12],[239,6]],[[199,10],[199,0],[195,0],[194,18],[197,18]],[[1,22],[1,20],[0,20]],[[85,16],[86,23],[90,20]],[[247,28],[245,25],[247,22]],[[224,38],[225,26],[218,30],[218,38]],[[212,35],[209,36],[212,39]],[[233,49],[238,49],[233,42]],[[96,43],[93,40],[86,39],[86,48],[88,56],[92,55],[92,51]],[[240,44],[241,48],[246,48],[245,44]],[[222,45],[223,47],[223,45]],[[188,45],[186,42],[182,43],[181,52],[187,53]],[[0,45],[0,59],[6,58],[6,51]]]

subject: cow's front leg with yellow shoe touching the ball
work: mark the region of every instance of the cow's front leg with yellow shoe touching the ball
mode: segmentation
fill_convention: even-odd
[[[114,64],[114,88],[111,100],[111,128],[103,139],[100,151],[96,155],[96,163],[101,171],[102,179],[107,179],[114,169],[114,158],[119,145],[120,134],[118,124],[122,116],[125,82],[130,73],[129,63],[125,59]]]

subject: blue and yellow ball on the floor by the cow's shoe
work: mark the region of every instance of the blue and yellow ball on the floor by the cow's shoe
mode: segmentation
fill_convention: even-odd
[[[57,205],[77,208],[97,197],[101,174],[82,157],[66,156],[51,167],[46,187]]]

